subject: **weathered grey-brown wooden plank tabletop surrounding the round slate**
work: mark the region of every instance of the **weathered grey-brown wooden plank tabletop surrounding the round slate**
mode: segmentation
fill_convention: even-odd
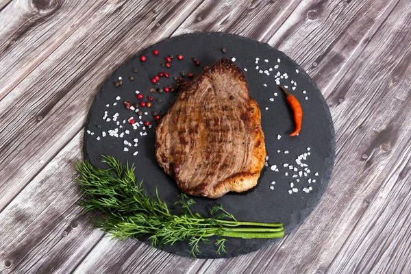
[[[411,273],[410,0],[0,0],[0,273]],[[336,128],[332,179],[292,234],[195,260],[110,241],[76,206],[86,114],[130,55],[219,31],[306,69]]]

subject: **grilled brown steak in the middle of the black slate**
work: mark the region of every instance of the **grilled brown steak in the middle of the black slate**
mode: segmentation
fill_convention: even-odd
[[[155,129],[155,156],[190,195],[219,198],[256,186],[264,133],[238,66],[223,58],[182,88]]]

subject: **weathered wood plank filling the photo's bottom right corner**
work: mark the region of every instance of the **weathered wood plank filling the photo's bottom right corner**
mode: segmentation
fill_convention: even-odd
[[[329,273],[410,273],[411,139]]]

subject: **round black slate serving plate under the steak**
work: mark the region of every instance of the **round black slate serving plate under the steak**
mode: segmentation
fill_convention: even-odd
[[[222,47],[227,49],[226,53],[221,51]],[[160,54],[153,55],[154,49],[160,51]],[[169,69],[160,66],[164,58],[170,54],[175,57],[182,54],[184,59],[174,58]],[[145,55],[147,61],[141,62],[140,55]],[[195,66],[192,62],[193,57],[200,60],[201,66]],[[329,108],[312,79],[288,56],[267,44],[233,34],[197,33],[169,38],[144,49],[112,73],[95,97],[86,123],[84,158],[94,166],[101,168],[105,167],[101,163],[101,155],[112,155],[122,162],[135,163],[138,182],[143,180],[149,195],[154,195],[155,187],[157,187],[161,199],[173,208],[172,205],[177,200],[179,190],[173,179],[166,175],[155,161],[153,133],[155,121],[151,112],[164,114],[173,103],[178,91],[160,94],[149,92],[149,90],[150,88],[164,88],[169,84],[175,85],[173,76],[179,77],[182,71],[186,74],[197,75],[202,66],[209,66],[223,57],[235,58],[232,59],[234,63],[245,71],[251,97],[256,99],[260,105],[269,166],[263,169],[256,188],[243,193],[229,193],[217,200],[194,197],[197,204],[193,206],[193,210],[208,216],[208,210],[221,203],[225,210],[234,214],[240,221],[281,222],[284,223],[285,232],[288,234],[312,212],[327,187],[334,166],[334,126]],[[260,58],[258,64],[256,64],[256,58]],[[277,66],[278,69],[275,69]],[[272,68],[272,71],[269,68]],[[137,69],[138,73],[134,73],[133,69]],[[153,75],[161,71],[169,73],[170,77],[168,79],[162,77],[160,84],[152,84]],[[267,71],[269,75],[266,75],[264,71]],[[303,108],[303,127],[299,136],[294,138],[289,136],[294,127],[292,113],[284,94],[275,82],[278,71],[283,75],[283,78],[279,79],[281,84],[288,86]],[[287,77],[284,73],[287,73]],[[134,81],[130,81],[129,76],[134,77]],[[119,81],[119,77],[122,78],[123,85],[116,87],[114,82]],[[186,79],[188,78],[184,77],[184,80]],[[291,84],[291,81],[296,82],[297,86]],[[295,86],[295,90],[292,86]],[[150,121],[153,124],[151,129],[142,130],[142,125],[138,129],[133,129],[127,123],[130,117],[140,121],[135,112],[126,110],[123,105],[124,101],[130,101],[132,104],[138,103],[136,90],[144,95],[145,101],[148,96],[154,98],[151,108],[140,108],[142,112],[147,112],[147,115],[142,115],[141,121]],[[270,100],[271,98],[273,101]],[[161,99],[162,102],[157,103],[157,99]],[[110,121],[107,121],[107,118],[103,120],[105,112]],[[116,113],[119,114],[117,121],[120,122],[119,125],[122,128],[116,125],[117,121],[113,121],[113,115]],[[126,122],[123,123],[123,120]],[[109,130],[116,128],[119,130],[118,134],[125,130],[128,130],[129,134],[124,133],[123,138],[110,136]],[[105,132],[104,137],[103,132]],[[147,135],[140,136],[140,132],[147,132]],[[281,138],[277,138],[278,135]],[[138,139],[138,147],[134,147],[135,138]],[[124,140],[130,142],[132,147],[125,145]],[[124,151],[125,147],[129,150]],[[134,155],[135,151],[138,151],[137,155]],[[307,154],[306,160],[302,160],[308,166],[301,167],[295,160],[303,153],[310,155]],[[298,170],[289,169],[284,164],[295,166]],[[278,171],[271,170],[273,165],[277,166]],[[299,171],[304,171],[306,167],[310,173],[300,177]],[[318,173],[317,176],[316,173]],[[292,177],[295,174],[297,177]],[[309,179],[311,183],[308,182]],[[314,179],[316,182],[313,182]],[[289,194],[290,182],[294,182],[294,188],[297,188],[298,192]],[[309,186],[312,187],[312,191],[303,192],[302,189]],[[141,240],[147,242],[146,239]],[[198,258],[238,256],[256,251],[274,241],[229,238],[225,245],[227,253],[218,256],[214,240],[212,239],[211,244],[200,245],[201,253],[197,255]],[[171,247],[162,249],[179,256],[190,256],[188,242],[177,242]]]

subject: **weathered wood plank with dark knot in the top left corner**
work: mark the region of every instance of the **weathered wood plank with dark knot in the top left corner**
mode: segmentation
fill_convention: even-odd
[[[15,0],[1,11],[0,99],[106,1]]]

